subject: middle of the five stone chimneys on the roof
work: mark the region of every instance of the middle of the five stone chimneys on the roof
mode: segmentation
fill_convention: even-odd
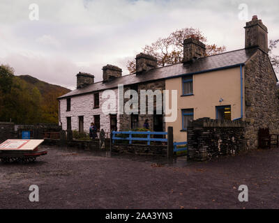
[[[135,70],[137,74],[157,68],[157,59],[155,56],[140,53],[135,57]]]

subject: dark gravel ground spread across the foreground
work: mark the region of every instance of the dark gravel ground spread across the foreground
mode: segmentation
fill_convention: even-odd
[[[279,149],[171,165],[47,147],[30,164],[0,163],[0,208],[279,208]],[[29,201],[38,185],[40,201]],[[239,202],[239,185],[249,201]]]

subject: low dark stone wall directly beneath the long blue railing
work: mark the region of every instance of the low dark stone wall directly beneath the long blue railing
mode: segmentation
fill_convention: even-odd
[[[141,144],[112,144],[113,153],[167,156],[167,146]]]

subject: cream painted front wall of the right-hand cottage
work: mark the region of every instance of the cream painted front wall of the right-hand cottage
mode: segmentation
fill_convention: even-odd
[[[181,96],[181,77],[166,79],[165,88],[166,90],[177,90],[177,118],[174,122],[166,123],[166,129],[168,126],[174,128],[174,141],[187,141],[187,132],[181,132],[181,109],[194,109],[194,119],[203,117],[215,119],[216,106],[231,105],[232,119],[241,117],[241,76],[239,67],[193,75],[194,95]],[[223,102],[219,102],[220,98],[223,98]],[[169,105],[171,104],[169,103]],[[244,105],[243,114],[245,114]]]

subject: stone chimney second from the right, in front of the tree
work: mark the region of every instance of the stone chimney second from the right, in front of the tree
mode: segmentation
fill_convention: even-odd
[[[205,56],[205,45],[195,38],[183,41],[183,62],[194,61]]]

